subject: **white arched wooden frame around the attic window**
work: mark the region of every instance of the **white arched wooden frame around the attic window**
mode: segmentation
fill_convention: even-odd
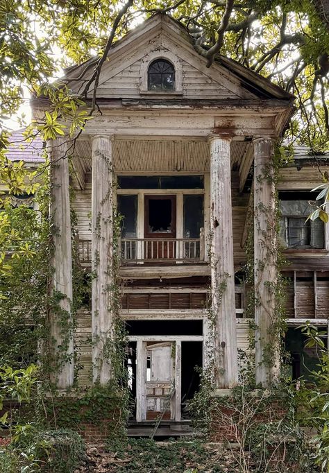
[[[156,60],[165,60],[171,63],[174,67],[175,81],[174,89],[170,90],[149,90],[149,67]],[[147,54],[141,63],[140,67],[140,94],[153,96],[176,96],[183,95],[183,67],[176,55],[170,51],[161,49]]]

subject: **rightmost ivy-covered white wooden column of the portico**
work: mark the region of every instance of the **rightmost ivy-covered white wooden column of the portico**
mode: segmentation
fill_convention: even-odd
[[[255,254],[255,370],[256,384],[266,387],[278,377],[276,322],[277,282],[276,201],[271,138],[253,141]]]

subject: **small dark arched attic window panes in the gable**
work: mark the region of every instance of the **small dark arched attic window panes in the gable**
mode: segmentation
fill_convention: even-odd
[[[170,92],[175,89],[175,69],[166,59],[155,59],[147,71],[147,89]]]

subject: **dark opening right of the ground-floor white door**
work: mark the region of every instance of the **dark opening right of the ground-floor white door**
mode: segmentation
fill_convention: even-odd
[[[182,342],[182,417],[189,418],[185,403],[199,390],[202,367],[202,342]]]

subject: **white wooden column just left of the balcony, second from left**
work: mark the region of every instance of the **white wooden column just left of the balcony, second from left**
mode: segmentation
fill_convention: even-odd
[[[92,380],[101,385],[110,380],[113,349],[112,218],[112,140],[96,135],[92,137]]]

